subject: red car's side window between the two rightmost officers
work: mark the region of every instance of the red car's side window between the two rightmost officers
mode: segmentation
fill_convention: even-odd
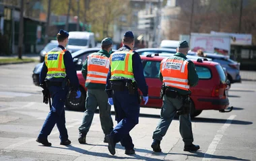
[[[158,61],[146,61],[144,76],[146,78],[159,78],[160,63]]]

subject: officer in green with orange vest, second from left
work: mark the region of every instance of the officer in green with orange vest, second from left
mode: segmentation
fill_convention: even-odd
[[[106,142],[106,135],[113,130],[111,106],[108,105],[108,95],[105,92],[112,44],[111,38],[104,38],[101,42],[102,50],[90,54],[82,67],[82,74],[86,80],[88,91],[86,111],[84,112],[82,125],[79,127],[78,142],[80,144],[86,144],[86,134],[92,125],[92,119],[97,107],[100,109],[100,123],[105,134],[104,142]]]

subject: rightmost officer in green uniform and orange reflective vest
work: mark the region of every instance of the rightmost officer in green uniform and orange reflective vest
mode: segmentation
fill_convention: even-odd
[[[198,76],[195,65],[187,59],[189,45],[187,41],[179,42],[177,53],[165,58],[160,64],[160,80],[164,83],[165,92],[160,114],[160,121],[153,133],[152,148],[154,152],[161,152],[160,142],[174,115],[179,112],[180,133],[185,143],[184,151],[199,150],[199,146],[193,144],[193,133],[190,118],[189,87],[197,85]]]

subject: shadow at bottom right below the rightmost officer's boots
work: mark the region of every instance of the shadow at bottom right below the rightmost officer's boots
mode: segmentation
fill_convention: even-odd
[[[185,156],[193,156],[197,158],[214,158],[214,159],[222,159],[222,160],[247,160],[242,158],[236,158],[234,156],[217,156],[217,155],[211,155],[211,154],[204,154],[202,152],[191,152],[191,154],[179,154],[179,153],[169,153],[169,154],[178,154],[178,155],[185,155]]]

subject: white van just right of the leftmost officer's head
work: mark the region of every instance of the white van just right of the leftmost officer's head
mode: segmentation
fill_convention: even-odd
[[[94,33],[69,32],[69,43],[67,44],[69,52],[76,52],[84,48],[94,48],[95,46]]]

